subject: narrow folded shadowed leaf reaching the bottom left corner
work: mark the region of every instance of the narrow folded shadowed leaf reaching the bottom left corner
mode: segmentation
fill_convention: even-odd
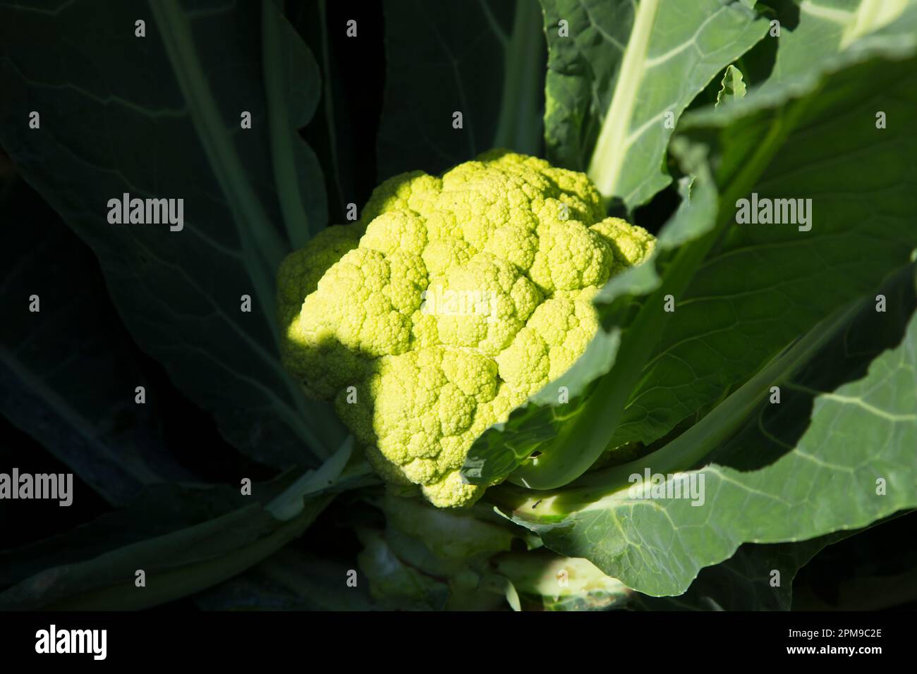
[[[0,610],[137,609],[213,587],[302,535],[347,488],[348,459],[346,444],[318,470],[254,485],[250,496],[228,487],[149,488],[124,510],[4,553],[0,581],[17,584],[0,592]]]

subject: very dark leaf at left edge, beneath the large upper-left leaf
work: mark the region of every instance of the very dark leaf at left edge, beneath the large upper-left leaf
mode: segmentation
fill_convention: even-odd
[[[155,393],[92,251],[25,183],[10,183],[0,204],[0,413],[109,503],[155,482],[191,481],[165,448]],[[29,311],[32,295],[39,312]],[[148,404],[134,402],[137,386]]]

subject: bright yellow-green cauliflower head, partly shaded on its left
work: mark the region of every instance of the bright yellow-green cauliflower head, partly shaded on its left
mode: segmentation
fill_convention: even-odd
[[[458,470],[474,439],[569,369],[594,293],[653,249],[603,215],[584,173],[505,150],[390,178],[359,223],[283,261],[283,363],[385,480],[473,503],[484,487]]]

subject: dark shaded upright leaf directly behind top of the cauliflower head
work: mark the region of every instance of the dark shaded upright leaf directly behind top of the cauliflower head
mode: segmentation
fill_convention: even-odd
[[[438,173],[496,147],[540,154],[545,62],[533,0],[386,0],[379,176]],[[453,128],[453,113],[462,128]]]

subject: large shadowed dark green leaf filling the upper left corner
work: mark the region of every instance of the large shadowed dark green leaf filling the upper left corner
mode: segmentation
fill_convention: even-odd
[[[141,348],[254,458],[327,456],[344,434],[283,372],[273,317],[277,264],[326,224],[321,171],[294,136],[319,93],[304,43],[270,2],[4,6],[0,31],[0,141],[94,249]],[[122,193],[184,199],[183,229],[109,224]]]

